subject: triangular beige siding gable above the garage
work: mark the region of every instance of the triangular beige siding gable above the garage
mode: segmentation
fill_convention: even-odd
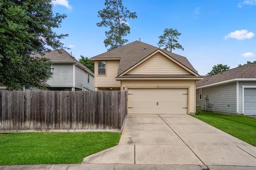
[[[127,74],[191,74],[160,53],[150,57]]]

